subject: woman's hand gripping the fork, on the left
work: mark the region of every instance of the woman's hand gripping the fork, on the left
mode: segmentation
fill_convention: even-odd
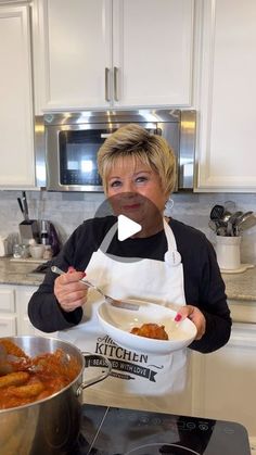
[[[60,275],[54,282],[54,295],[64,312],[73,312],[87,301],[88,287],[79,281],[85,271],[69,267],[66,274]]]

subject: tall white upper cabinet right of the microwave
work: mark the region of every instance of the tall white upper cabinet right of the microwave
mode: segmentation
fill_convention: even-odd
[[[199,73],[194,77],[199,109],[195,191],[254,192],[256,2],[200,3],[195,27],[200,30]]]

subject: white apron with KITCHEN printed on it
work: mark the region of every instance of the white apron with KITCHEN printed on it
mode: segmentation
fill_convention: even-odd
[[[165,261],[114,260],[105,254],[117,229],[115,224],[104,238],[100,249],[92,254],[86,273],[90,281],[105,294],[115,299],[139,299],[178,309],[185,304],[183,266],[177,251],[175,236],[164,220],[168,250]],[[97,308],[102,296],[89,290],[84,306],[81,323],[59,336],[73,342],[81,351],[107,356],[112,362],[112,374],[104,381],[84,391],[84,401],[91,404],[130,407],[137,409],[189,414],[189,384],[187,375],[187,350],[171,355],[152,355],[126,351],[106,336],[98,323]],[[91,361],[86,368],[86,378],[103,370],[101,363]],[[98,368],[95,372],[95,368]]]

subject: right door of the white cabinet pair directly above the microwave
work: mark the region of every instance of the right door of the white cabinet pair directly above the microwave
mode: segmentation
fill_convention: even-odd
[[[114,0],[115,105],[190,105],[193,0]]]

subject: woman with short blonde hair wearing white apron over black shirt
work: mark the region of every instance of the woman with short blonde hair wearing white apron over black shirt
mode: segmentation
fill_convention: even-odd
[[[79,280],[87,275],[116,299],[171,304],[177,319],[189,317],[196,326],[190,349],[208,353],[226,344],[231,330],[214,249],[201,231],[164,218],[176,176],[165,139],[138,125],[124,126],[101,147],[98,166],[115,216],[86,220],[75,230],[54,261],[66,274],[47,274],[29,302],[29,318],[38,329],[60,330],[81,350],[111,359],[112,376],[85,392],[87,402],[189,413],[190,350],[156,357],[121,350],[98,324],[101,296]],[[124,241],[117,237],[120,213],[142,226]]]

